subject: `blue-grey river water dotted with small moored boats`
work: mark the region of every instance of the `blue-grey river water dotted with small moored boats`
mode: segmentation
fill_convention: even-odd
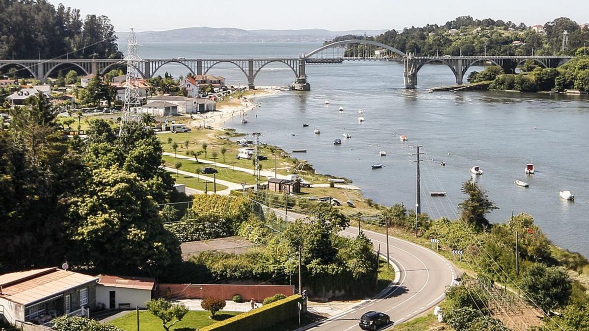
[[[141,41],[139,41],[141,44]],[[143,58],[158,57],[297,57],[317,43],[203,43],[146,44]],[[474,68],[482,69],[482,68]],[[169,64],[158,74],[186,74]],[[243,73],[231,64],[211,69],[227,84],[245,85]],[[403,88],[402,65],[393,62],[346,62],[307,65],[311,91],[286,91],[260,98],[260,108],[249,112],[249,123],[239,118],[226,123],[242,132],[261,131],[263,142],[310,161],[320,173],[353,180],[364,196],[378,203],[415,205],[415,163],[412,145],[423,145],[421,164],[422,211],[433,217],[456,218],[464,199],[462,182],[469,168],[484,171],[477,178],[499,210],[491,221],[504,221],[525,211],[557,245],[589,256],[589,98],[513,92],[435,92],[427,87],[450,85],[454,75],[444,65],[426,65],[418,74],[418,89]],[[466,77],[466,75],[465,75]],[[294,75],[286,65],[268,65],[256,85],[286,85]],[[324,104],[329,100],[329,106]],[[344,107],[343,112],[338,111]],[[364,114],[359,115],[362,108]],[[256,116],[257,115],[257,116]],[[365,117],[363,124],[358,117]],[[303,128],[303,123],[310,126]],[[313,127],[321,130],[313,134]],[[344,139],[343,133],[352,135]],[[294,134],[294,136],[290,135]],[[409,141],[402,142],[404,134]],[[342,145],[333,145],[336,138]],[[379,151],[388,155],[379,157]],[[524,174],[533,160],[536,173]],[[446,166],[441,167],[440,163]],[[383,168],[372,170],[371,164]],[[515,186],[519,179],[529,188]],[[559,190],[571,190],[575,201],[564,201]],[[430,191],[448,196],[432,198]]]

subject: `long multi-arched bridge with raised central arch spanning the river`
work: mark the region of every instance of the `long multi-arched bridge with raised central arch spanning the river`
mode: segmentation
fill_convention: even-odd
[[[503,68],[504,72],[512,73],[515,68],[527,60],[533,60],[544,68],[555,68],[571,57],[555,55],[534,56],[468,56],[468,57],[416,57],[405,54],[399,49],[379,42],[361,39],[349,39],[323,45],[307,54],[296,58],[169,58],[143,59],[138,71],[144,78],[154,77],[163,65],[177,63],[184,65],[191,74],[206,75],[216,65],[229,63],[236,65],[247,78],[250,88],[255,88],[254,80],[266,65],[270,63],[284,64],[289,67],[295,77],[295,90],[310,90],[307,82],[306,65],[342,64],[343,61],[399,61],[403,63],[403,77],[406,88],[416,88],[417,74],[423,65],[430,62],[441,62],[447,65],[456,77],[456,84],[462,84],[468,68],[478,62],[492,62]],[[61,68],[76,67],[84,74],[105,74],[114,68],[124,68],[124,59],[6,59],[0,60],[0,72],[8,66],[20,67],[28,71],[34,78],[45,82],[49,75],[57,73]]]

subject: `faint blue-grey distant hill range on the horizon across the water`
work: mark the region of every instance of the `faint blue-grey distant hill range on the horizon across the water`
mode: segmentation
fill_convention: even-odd
[[[136,32],[140,42],[323,42],[338,35],[375,36],[383,30],[329,31],[326,29],[302,30],[244,30],[236,28],[194,27],[167,31]],[[127,41],[127,32],[117,33],[119,41]]]

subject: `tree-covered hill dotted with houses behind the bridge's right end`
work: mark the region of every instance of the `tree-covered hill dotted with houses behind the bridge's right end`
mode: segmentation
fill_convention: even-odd
[[[584,23],[584,22],[581,22]],[[376,37],[345,35],[345,39],[369,39],[416,55],[536,55],[583,54],[583,44],[589,45],[589,29],[569,18],[557,18],[541,25],[544,32],[534,31],[524,23],[518,25],[500,19],[473,19],[460,16],[444,25],[390,30]],[[568,49],[562,50],[562,32],[568,32]],[[326,41],[327,43],[328,41]]]

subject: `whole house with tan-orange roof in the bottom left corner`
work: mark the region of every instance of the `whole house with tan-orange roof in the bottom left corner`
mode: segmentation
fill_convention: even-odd
[[[88,315],[98,277],[57,267],[0,275],[0,318],[43,324],[64,314]]]

